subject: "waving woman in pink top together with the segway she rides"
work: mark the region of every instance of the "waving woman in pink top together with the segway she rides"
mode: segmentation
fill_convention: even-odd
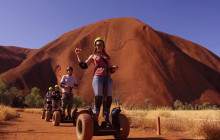
[[[93,135],[113,135],[116,139],[126,139],[129,135],[130,126],[128,118],[120,114],[120,107],[114,108],[111,112],[111,117],[109,117],[113,83],[111,73],[114,73],[118,69],[118,66],[111,66],[110,57],[105,52],[105,42],[101,37],[95,39],[94,45],[95,50],[93,55],[90,55],[85,62],[79,58],[81,49],[75,49],[79,65],[82,69],[87,69],[88,65],[92,62],[95,65],[92,81],[95,93],[94,112],[91,108],[85,108],[76,113],[77,138],[78,140],[87,140],[92,139]],[[102,104],[105,121],[99,126],[98,116]]]

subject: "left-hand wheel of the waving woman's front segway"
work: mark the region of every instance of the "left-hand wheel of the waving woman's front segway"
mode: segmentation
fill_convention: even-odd
[[[76,122],[76,135],[78,140],[91,140],[94,131],[93,119],[89,114],[81,114]]]

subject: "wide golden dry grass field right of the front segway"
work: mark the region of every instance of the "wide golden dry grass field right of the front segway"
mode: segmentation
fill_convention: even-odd
[[[142,130],[156,131],[157,117],[161,119],[161,133],[168,134],[174,132],[184,132],[189,134],[191,138],[208,138],[220,134],[220,127],[217,122],[213,122],[214,126],[204,124],[204,120],[220,120],[219,110],[126,110],[122,108],[130,120],[131,128],[139,128]],[[203,120],[204,119],[204,120]],[[220,122],[218,122],[220,123]],[[208,132],[208,128],[211,132]],[[201,128],[201,129],[198,129]],[[203,130],[203,131],[202,131]],[[213,136],[214,135],[214,136]],[[209,137],[210,136],[210,137]],[[215,137],[218,137],[215,136]],[[215,138],[217,139],[217,138]],[[220,139],[218,137],[218,139]]]

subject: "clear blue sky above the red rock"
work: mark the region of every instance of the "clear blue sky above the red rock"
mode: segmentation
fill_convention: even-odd
[[[219,0],[0,0],[0,45],[41,48],[79,27],[134,17],[220,56]]]

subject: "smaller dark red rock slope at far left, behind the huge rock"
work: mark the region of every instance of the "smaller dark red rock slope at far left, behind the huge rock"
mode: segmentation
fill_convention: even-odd
[[[0,74],[20,65],[31,51],[32,49],[0,46]]]

